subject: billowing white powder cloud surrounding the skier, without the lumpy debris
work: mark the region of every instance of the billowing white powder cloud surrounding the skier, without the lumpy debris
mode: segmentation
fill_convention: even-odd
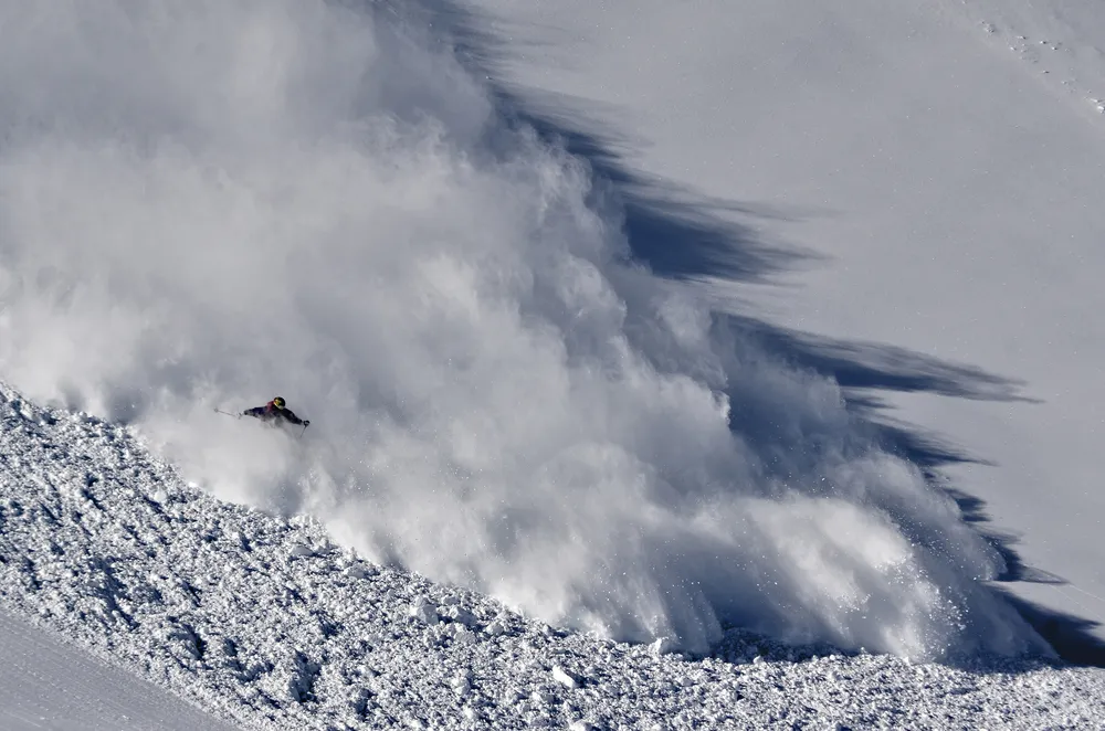
[[[0,373],[549,622],[1036,645],[980,583],[999,559],[833,383],[627,264],[586,166],[402,13],[2,0]],[[741,390],[786,438],[730,430]],[[213,412],[277,393],[302,439]]]

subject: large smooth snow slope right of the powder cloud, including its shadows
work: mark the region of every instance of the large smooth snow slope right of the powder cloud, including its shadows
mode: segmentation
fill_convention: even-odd
[[[517,106],[635,200],[639,251],[887,406],[1017,595],[1105,622],[1102,3],[464,6]]]

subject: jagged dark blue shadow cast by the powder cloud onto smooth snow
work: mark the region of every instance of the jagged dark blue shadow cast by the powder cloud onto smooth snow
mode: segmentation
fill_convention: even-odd
[[[562,146],[590,166],[592,203],[600,210],[620,211],[630,247],[627,255],[645,263],[655,274],[675,279],[770,283],[779,274],[825,262],[827,257],[801,247],[765,241],[753,225],[743,222],[791,218],[786,212],[713,200],[632,170],[625,162],[629,141],[594,121],[582,102],[519,89],[502,81],[509,75],[505,72],[507,54],[499,38],[487,30],[493,25],[487,19],[452,0],[423,0],[422,8],[433,14],[434,28],[442,33],[440,42],[487,80],[498,112],[511,128],[535,130],[539,138]],[[495,149],[495,140],[490,145]],[[937,435],[893,422],[877,395],[924,392],[982,401],[1035,401],[1021,393],[1022,382],[901,347],[827,338],[745,315],[718,317],[725,327],[739,331],[770,356],[834,379],[844,391],[849,411],[873,430],[880,444],[917,465],[934,489],[950,495],[965,519],[1001,554],[1006,572],[999,581],[1064,583],[1027,566],[1014,548],[1017,538],[990,526],[985,501],[956,489],[940,474],[940,468],[955,464],[986,463]],[[753,422],[759,423],[757,419]],[[764,421],[764,428],[771,428],[770,420]],[[1007,596],[1064,660],[1105,667],[1105,643],[1093,635],[1097,623],[1036,606],[1000,587],[994,591]]]

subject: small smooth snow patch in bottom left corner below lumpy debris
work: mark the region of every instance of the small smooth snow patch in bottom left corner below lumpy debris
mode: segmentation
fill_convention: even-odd
[[[230,731],[133,674],[0,613],[4,731]]]

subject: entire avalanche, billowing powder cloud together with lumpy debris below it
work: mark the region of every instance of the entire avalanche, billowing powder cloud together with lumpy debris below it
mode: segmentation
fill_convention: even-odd
[[[0,0],[0,608],[246,728],[1099,718],[451,9]]]

